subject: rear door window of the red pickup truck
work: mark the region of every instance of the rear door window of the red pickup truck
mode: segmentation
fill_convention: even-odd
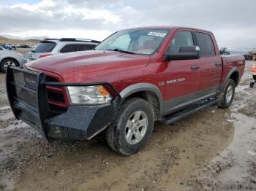
[[[214,43],[211,36],[204,33],[195,33],[197,37],[198,47],[200,47],[200,56],[214,56]]]

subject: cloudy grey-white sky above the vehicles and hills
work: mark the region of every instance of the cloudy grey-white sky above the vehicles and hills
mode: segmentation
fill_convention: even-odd
[[[213,31],[219,47],[256,47],[256,0],[0,0],[0,35],[105,39],[135,26]]]

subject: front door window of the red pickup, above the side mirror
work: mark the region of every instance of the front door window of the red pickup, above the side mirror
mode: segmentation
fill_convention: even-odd
[[[172,43],[170,44],[169,53],[179,52],[180,47],[194,46],[192,33],[189,31],[181,31],[176,34]]]

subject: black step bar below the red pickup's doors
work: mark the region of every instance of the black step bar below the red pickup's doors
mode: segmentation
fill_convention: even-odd
[[[218,101],[219,98],[210,98],[208,101],[204,101],[202,104],[195,104],[187,109],[182,110],[181,112],[176,112],[174,114],[167,115],[166,117],[162,117],[161,122],[165,125],[170,125],[173,122],[187,117],[189,114],[193,114],[200,111],[201,109],[205,109],[208,106],[216,104]]]

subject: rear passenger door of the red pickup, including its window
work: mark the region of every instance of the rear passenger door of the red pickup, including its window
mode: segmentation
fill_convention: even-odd
[[[214,36],[195,32],[197,46],[200,47],[200,84],[202,96],[216,93],[222,77],[222,60],[215,51]]]

